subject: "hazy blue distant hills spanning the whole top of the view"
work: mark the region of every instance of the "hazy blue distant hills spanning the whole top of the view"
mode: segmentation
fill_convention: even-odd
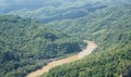
[[[4,3],[4,4],[2,4]],[[28,4],[29,3],[29,4]],[[0,14],[32,17],[41,23],[84,17],[110,4],[131,3],[130,0],[7,0],[0,3]]]

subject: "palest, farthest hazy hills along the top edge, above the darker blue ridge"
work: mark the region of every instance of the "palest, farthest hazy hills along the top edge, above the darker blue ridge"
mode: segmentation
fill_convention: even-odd
[[[104,0],[95,0],[95,1],[99,2]],[[88,0],[88,1],[86,0],[83,0],[83,1],[81,0],[49,0],[49,1],[47,0],[10,0],[9,2],[8,0],[0,0],[0,9],[1,9],[0,14],[10,13],[12,11],[14,12],[24,11],[24,10],[26,11],[23,13],[27,14],[27,10],[37,11],[38,9],[43,9],[43,8],[67,9],[67,8],[73,8],[76,5],[81,7],[83,4],[86,4],[86,2],[94,2],[94,1],[92,0]],[[37,12],[35,14],[37,14]]]

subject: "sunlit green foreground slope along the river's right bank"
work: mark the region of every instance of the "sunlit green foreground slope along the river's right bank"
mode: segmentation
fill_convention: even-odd
[[[70,64],[49,70],[41,77],[130,77],[131,46],[96,52]]]

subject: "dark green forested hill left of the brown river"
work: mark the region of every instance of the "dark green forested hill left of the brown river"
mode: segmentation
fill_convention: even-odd
[[[82,41],[35,20],[0,16],[0,77],[23,77],[51,59],[82,50]]]

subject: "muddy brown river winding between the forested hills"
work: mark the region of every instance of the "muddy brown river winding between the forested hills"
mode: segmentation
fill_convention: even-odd
[[[84,40],[84,41],[87,42],[88,46],[86,47],[86,49],[84,49],[79,54],[75,54],[75,55],[72,55],[72,56],[69,56],[69,57],[66,57],[66,59],[61,59],[61,60],[58,60],[58,61],[52,61],[48,65],[44,66],[41,69],[37,69],[35,72],[32,72],[26,77],[37,77],[37,76],[43,75],[44,73],[49,72],[49,69],[51,69],[55,66],[62,65],[64,63],[70,63],[70,62],[73,62],[73,61],[76,61],[76,60],[81,60],[85,55],[91,54],[92,51],[97,48],[97,44],[94,41],[88,41],[88,40]]]

